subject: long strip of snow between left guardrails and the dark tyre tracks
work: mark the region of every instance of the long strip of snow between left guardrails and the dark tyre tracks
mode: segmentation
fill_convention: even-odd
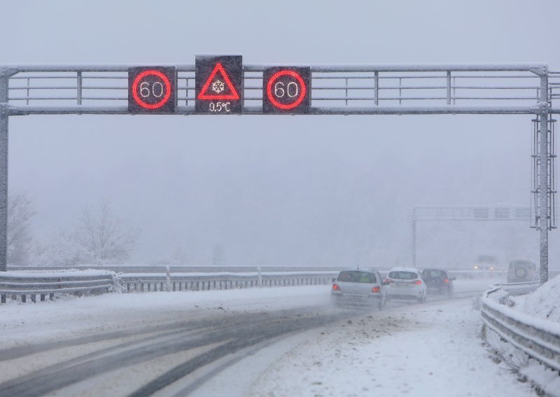
[[[89,331],[114,331],[141,324],[202,318],[223,312],[281,310],[329,302],[330,286],[104,294],[41,303],[0,305],[3,347],[28,340],[76,338]]]

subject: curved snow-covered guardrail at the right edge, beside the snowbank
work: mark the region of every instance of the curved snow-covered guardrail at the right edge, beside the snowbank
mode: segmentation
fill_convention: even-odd
[[[553,370],[560,370],[560,331],[545,319],[537,319],[507,306],[499,287],[482,296],[482,320],[500,338]],[[496,299],[500,294],[501,299]]]

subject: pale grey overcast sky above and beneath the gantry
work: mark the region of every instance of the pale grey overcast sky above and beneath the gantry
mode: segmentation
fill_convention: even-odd
[[[545,62],[557,1],[10,1],[0,64]],[[210,264],[409,264],[413,205],[528,205],[531,116],[10,117],[9,189],[34,238],[103,199],[143,232],[131,261],[177,247]],[[558,231],[550,264],[560,259]],[[538,259],[528,224],[423,224],[419,264]]]

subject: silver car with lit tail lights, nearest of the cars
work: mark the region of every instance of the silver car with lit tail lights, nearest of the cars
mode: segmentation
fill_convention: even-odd
[[[332,279],[330,297],[336,305],[384,307],[386,287],[379,271],[374,269],[342,270]]]

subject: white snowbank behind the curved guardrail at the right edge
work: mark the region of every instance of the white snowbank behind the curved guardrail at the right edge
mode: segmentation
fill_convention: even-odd
[[[513,298],[517,310],[528,315],[560,322],[560,275],[545,282],[532,294]]]

